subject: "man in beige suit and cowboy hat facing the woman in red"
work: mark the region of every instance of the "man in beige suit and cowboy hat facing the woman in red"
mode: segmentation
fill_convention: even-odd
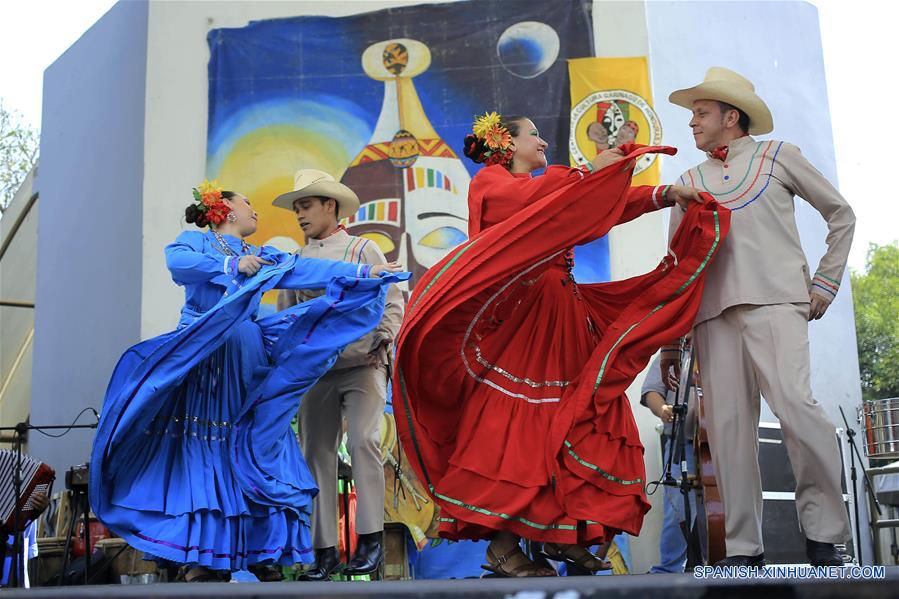
[[[708,266],[694,340],[705,412],[722,493],[727,559],[764,564],[758,465],[759,393],[780,420],[796,475],[796,507],[813,565],[840,565],[834,543],[849,538],[835,429],[812,397],[808,321],[821,318],[840,286],[855,216],[840,193],[773,130],[768,107],[737,73],[712,67],[705,81],[671,94],[692,110],[696,147],[707,159],[680,182],[733,211],[730,233]],[[799,242],[793,198],[827,221],[827,253],[811,275]],[[669,238],[682,218],[672,210]],[[663,350],[663,380],[676,351]]]

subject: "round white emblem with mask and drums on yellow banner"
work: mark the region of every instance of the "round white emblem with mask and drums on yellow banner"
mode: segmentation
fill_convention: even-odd
[[[568,150],[577,164],[589,162],[609,148],[625,143],[662,143],[662,123],[643,97],[626,90],[593,92],[571,108]],[[656,154],[637,161],[634,175],[652,166]]]

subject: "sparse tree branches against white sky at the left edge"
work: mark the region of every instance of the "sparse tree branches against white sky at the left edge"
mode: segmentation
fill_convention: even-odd
[[[37,162],[38,132],[0,99],[0,214]]]

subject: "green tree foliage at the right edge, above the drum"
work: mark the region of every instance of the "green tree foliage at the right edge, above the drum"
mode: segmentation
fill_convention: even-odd
[[[870,244],[865,273],[850,278],[862,395],[899,397],[899,242]]]

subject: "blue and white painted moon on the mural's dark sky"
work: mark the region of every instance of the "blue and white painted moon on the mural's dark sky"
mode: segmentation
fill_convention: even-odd
[[[503,31],[496,43],[503,67],[522,79],[545,73],[559,57],[559,34],[538,21],[522,21]]]

